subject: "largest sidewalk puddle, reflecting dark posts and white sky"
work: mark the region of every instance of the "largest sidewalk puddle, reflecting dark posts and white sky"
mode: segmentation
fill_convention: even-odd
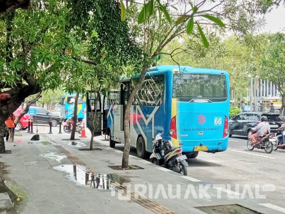
[[[120,176],[118,174],[93,174],[87,172],[82,165],[63,164],[53,167],[67,173],[67,178],[80,186],[96,189],[115,189],[118,184],[130,183],[130,176]]]

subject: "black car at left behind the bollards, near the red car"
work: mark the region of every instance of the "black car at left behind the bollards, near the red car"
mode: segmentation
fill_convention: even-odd
[[[30,111],[36,110],[36,115],[33,115],[33,123],[44,123],[50,124],[50,119],[52,119],[52,126],[57,126],[59,124],[60,116],[50,113],[48,110],[40,107],[30,106]]]

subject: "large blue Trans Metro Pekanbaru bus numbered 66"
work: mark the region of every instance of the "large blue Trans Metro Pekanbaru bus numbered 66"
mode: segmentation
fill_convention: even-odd
[[[110,146],[124,143],[124,110],[139,75],[120,80],[108,98]],[[130,111],[130,143],[137,155],[152,152],[158,133],[188,158],[228,146],[229,78],[223,70],[162,65],[149,68]]]

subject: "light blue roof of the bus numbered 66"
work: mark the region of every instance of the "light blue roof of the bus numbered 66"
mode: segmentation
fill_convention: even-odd
[[[178,66],[178,65],[159,65],[148,69],[146,76],[169,74],[169,73],[207,73],[207,74],[227,74],[227,71],[216,70],[210,68],[194,68],[190,66]],[[140,74],[129,76],[122,76],[121,80],[127,80],[130,78],[138,78]]]

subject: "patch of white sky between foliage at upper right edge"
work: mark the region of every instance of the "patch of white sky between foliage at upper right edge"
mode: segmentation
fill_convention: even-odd
[[[285,32],[285,7],[279,6],[273,9],[271,13],[265,15],[266,25],[261,32],[276,33]]]

